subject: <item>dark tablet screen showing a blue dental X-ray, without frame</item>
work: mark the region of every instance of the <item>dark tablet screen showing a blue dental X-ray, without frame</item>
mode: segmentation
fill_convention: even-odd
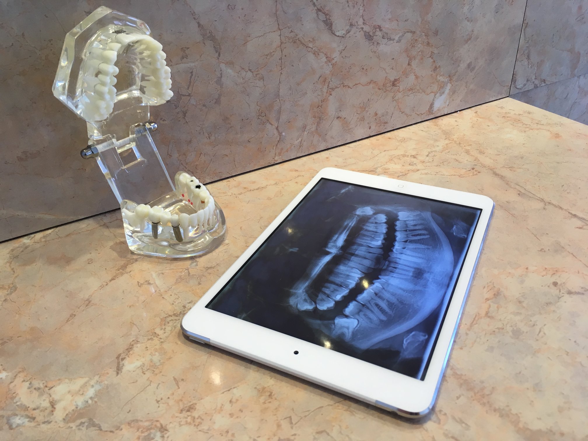
[[[480,212],[323,178],[206,308],[422,380]]]

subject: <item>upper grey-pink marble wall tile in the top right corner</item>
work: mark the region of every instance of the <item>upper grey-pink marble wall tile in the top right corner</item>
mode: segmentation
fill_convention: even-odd
[[[528,0],[510,93],[588,74],[588,3]]]

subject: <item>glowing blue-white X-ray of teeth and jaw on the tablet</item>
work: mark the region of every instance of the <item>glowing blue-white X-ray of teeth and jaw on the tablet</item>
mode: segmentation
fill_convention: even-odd
[[[453,274],[452,248],[431,213],[376,210],[345,220],[289,299],[309,326],[359,350],[426,319]]]

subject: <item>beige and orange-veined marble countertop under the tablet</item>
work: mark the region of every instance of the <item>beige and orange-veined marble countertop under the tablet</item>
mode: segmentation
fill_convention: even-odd
[[[211,185],[228,237],[199,259],[131,255],[119,212],[0,244],[0,439],[585,440],[587,141],[506,98]],[[325,166],[496,202],[422,424],[182,337],[183,314]]]

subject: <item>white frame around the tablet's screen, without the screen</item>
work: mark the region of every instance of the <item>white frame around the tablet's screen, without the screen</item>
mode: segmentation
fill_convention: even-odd
[[[322,178],[482,209],[453,296],[447,307],[443,325],[439,330],[439,337],[430,358],[425,379],[418,380],[402,375],[323,346],[206,308],[216,293],[228,283],[229,279]],[[194,340],[218,346],[383,409],[392,410],[403,416],[422,416],[435,402],[493,207],[492,199],[482,195],[335,168],[322,169],[189,310],[182,320],[182,330],[186,336]],[[298,353],[295,354],[295,351]]]

